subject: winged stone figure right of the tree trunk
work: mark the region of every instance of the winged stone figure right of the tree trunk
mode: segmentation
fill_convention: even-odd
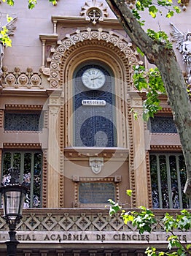
[[[183,61],[187,67],[187,83],[191,84],[191,32],[185,35],[173,23],[171,26],[173,28],[172,41],[176,42],[176,48],[182,53]]]

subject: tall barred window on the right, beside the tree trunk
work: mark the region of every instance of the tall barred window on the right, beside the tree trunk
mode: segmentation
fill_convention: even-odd
[[[182,154],[151,154],[153,208],[190,208],[184,195],[187,172]]]

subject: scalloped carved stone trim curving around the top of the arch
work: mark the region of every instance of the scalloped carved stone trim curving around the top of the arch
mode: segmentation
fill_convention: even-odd
[[[67,50],[73,45],[77,45],[78,42],[84,42],[85,40],[103,40],[108,42],[124,53],[130,66],[140,63],[139,54],[133,49],[132,44],[127,42],[121,35],[116,34],[116,32],[90,28],[83,31],[77,30],[73,34],[66,34],[66,37],[58,40],[58,45],[51,49],[52,57],[47,59],[50,62],[50,88],[56,89],[60,87],[61,64]]]

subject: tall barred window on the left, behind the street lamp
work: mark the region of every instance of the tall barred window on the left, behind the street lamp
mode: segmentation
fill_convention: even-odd
[[[2,177],[5,183],[9,179],[9,168],[20,170],[20,182],[28,187],[24,208],[42,206],[42,152],[11,151],[2,157]]]

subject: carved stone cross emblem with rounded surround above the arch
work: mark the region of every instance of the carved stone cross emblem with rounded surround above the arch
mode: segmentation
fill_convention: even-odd
[[[104,3],[101,1],[86,1],[85,5],[82,7],[80,15],[84,16],[85,20],[89,20],[95,25],[98,21],[102,21],[104,20],[104,17],[108,16],[106,9]]]

